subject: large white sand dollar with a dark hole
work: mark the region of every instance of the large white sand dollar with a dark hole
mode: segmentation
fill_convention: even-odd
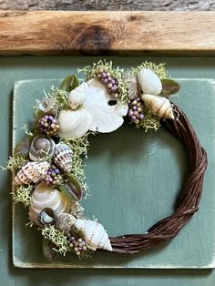
[[[113,97],[108,94],[107,87],[96,78],[90,79],[87,84],[87,98],[83,108],[92,117],[89,130],[106,133],[118,129],[124,122],[123,116],[128,113],[128,104],[118,102],[114,106],[109,105],[108,102]]]

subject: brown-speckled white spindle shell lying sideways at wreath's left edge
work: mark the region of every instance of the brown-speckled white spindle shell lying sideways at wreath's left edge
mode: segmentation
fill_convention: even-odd
[[[48,162],[27,162],[16,174],[14,179],[15,185],[37,183],[46,175],[50,167]]]

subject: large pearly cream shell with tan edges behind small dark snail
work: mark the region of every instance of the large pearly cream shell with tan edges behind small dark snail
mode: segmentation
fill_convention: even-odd
[[[69,212],[71,203],[58,189],[52,189],[45,183],[36,186],[29,207],[29,219],[38,224],[38,215],[45,209],[53,209],[56,215],[62,212]]]

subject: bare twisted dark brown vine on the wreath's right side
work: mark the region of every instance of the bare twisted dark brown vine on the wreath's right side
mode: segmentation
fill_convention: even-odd
[[[110,238],[114,252],[138,253],[174,238],[199,209],[204,173],[208,165],[207,154],[204,148],[201,148],[188,117],[174,104],[173,109],[178,119],[165,119],[162,125],[185,146],[190,164],[189,178],[179,193],[177,208],[171,216],[159,220],[145,234],[127,234]]]

